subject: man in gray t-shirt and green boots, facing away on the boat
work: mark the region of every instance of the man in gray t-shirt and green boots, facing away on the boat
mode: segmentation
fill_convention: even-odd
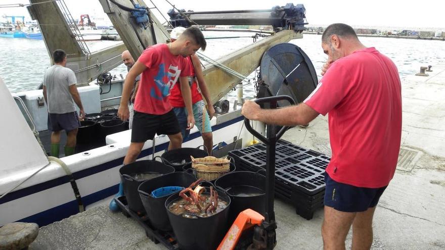
[[[71,69],[65,67],[66,53],[56,49],[53,53],[54,65],[47,69],[43,77],[43,97],[48,107],[48,130],[51,133],[51,156],[59,157],[60,132],[67,134],[65,156],[74,154],[77,128],[80,126],[74,103],[83,111],[80,95],[76,87],[76,76]],[[74,101],[74,102],[73,102]]]

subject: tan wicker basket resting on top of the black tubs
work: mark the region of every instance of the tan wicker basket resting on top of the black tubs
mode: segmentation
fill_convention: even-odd
[[[214,180],[230,171],[230,160],[207,156],[204,158],[192,158],[192,168],[196,171],[196,177],[207,181]]]

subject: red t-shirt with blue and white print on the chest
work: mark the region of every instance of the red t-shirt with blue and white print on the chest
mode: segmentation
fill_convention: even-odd
[[[172,109],[168,102],[170,89],[179,81],[180,76],[192,75],[190,63],[181,55],[173,56],[168,45],[163,43],[146,48],[138,62],[143,63],[147,69],[142,72],[135,110],[152,115],[169,112]]]

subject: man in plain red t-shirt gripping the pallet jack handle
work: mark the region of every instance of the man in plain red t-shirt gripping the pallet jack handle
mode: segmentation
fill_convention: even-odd
[[[326,174],[325,249],[344,249],[352,225],[352,249],[369,249],[372,218],[392,179],[402,134],[402,96],[394,63],[364,46],[346,24],[328,26],[322,36],[328,55],[323,78],[298,106],[261,110],[247,101],[242,114],[278,125],[307,124],[329,113],[332,158]]]

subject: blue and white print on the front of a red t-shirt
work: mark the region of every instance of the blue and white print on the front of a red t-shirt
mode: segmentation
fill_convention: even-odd
[[[177,66],[170,65],[168,67],[168,71],[165,72],[164,64],[159,65],[159,72],[154,78],[154,82],[156,83],[156,86],[158,88],[158,92],[161,93],[161,95],[158,95],[158,92],[155,90],[155,87],[152,87],[150,91],[150,95],[158,100],[162,100],[164,97],[168,96],[170,94],[170,89],[176,84],[177,79],[179,78],[181,74],[181,70],[177,68]],[[168,81],[164,82],[164,79],[167,78]]]

